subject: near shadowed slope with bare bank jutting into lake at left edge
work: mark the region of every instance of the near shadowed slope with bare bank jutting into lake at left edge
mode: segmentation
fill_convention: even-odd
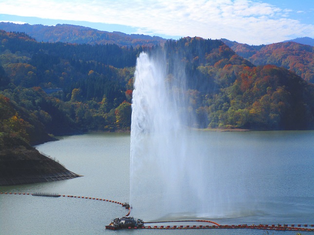
[[[30,118],[27,110],[0,94],[0,186],[79,177],[29,144],[31,138],[40,142],[54,140],[43,131],[40,122],[34,123]]]

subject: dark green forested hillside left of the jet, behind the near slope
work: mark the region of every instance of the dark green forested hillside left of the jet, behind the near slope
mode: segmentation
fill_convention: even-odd
[[[126,103],[130,109],[134,66],[142,47],[41,43],[5,31],[0,31],[0,41],[1,93],[34,118],[44,119],[48,133],[129,128],[130,117],[121,122],[119,111]]]

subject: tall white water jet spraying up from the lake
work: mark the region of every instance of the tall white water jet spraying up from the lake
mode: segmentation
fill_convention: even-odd
[[[188,128],[192,118],[185,97],[184,69],[179,64],[168,74],[164,53],[142,53],[137,59],[130,203],[132,216],[146,221],[219,217],[226,209],[228,191],[217,176],[220,162],[209,155],[206,140],[197,140],[198,135]],[[215,161],[218,171],[214,170]]]

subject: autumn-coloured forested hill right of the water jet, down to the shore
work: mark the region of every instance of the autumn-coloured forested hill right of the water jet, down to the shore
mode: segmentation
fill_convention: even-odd
[[[295,73],[256,67],[219,40],[182,38],[165,48],[185,61],[190,109],[199,127],[314,127],[314,85]]]

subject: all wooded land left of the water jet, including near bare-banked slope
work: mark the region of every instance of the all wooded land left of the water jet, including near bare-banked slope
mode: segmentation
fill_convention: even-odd
[[[129,130],[142,50],[41,43],[0,30],[0,185],[79,177],[31,147],[52,135]]]

